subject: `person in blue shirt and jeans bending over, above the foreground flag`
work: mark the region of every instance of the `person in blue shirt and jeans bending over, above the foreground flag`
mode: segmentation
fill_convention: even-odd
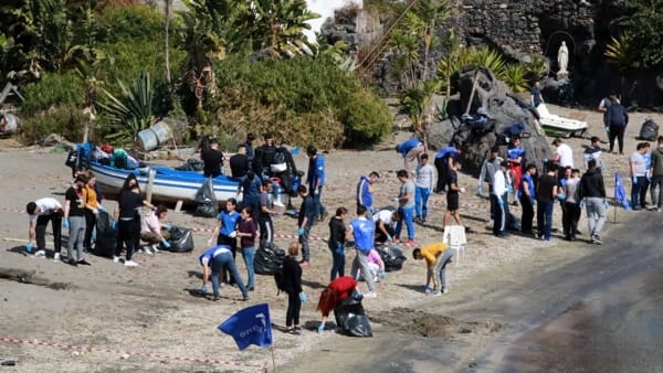
[[[212,292],[214,296],[214,300],[220,299],[219,295],[219,274],[221,271],[230,271],[230,275],[238,284],[240,291],[242,291],[242,300],[249,300],[249,291],[246,291],[246,287],[244,286],[244,281],[240,277],[240,273],[238,271],[238,267],[235,266],[234,258],[232,257],[232,253],[230,252],[229,245],[217,245],[200,255],[198,258],[200,265],[202,266],[202,286],[200,287],[200,292],[204,296],[208,292],[208,278],[210,276],[210,269],[212,273]]]

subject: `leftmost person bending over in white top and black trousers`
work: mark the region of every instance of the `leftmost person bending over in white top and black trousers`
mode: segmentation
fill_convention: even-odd
[[[32,255],[33,242],[36,242],[35,257],[46,256],[46,225],[51,222],[53,228],[53,255],[60,256],[62,249],[62,215],[64,211],[60,202],[53,198],[46,196],[25,205],[28,221],[28,244],[25,252]]]

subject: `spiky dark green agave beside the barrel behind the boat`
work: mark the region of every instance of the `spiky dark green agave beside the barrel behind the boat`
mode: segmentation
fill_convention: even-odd
[[[122,81],[117,81],[122,89],[122,97],[116,97],[108,90],[104,93],[99,106],[104,110],[105,118],[114,128],[107,138],[116,140],[122,145],[131,143],[136,140],[139,131],[155,122],[152,111],[154,88],[147,71],[141,71],[140,76],[134,81],[131,87],[127,87]]]

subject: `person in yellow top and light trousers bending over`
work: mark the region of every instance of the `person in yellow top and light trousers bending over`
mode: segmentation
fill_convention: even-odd
[[[421,248],[417,247],[412,251],[412,256],[415,260],[425,259],[425,286],[423,290],[431,297],[449,292],[449,281],[446,280],[446,264],[455,254],[455,248],[449,247],[445,243],[428,244]],[[431,279],[433,287],[430,287]]]

